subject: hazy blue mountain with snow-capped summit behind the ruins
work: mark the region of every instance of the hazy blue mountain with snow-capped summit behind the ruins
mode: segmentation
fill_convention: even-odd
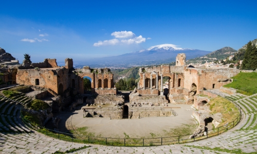
[[[203,51],[189,48],[179,48],[173,44],[161,44],[137,52],[126,53],[117,56],[104,57],[98,60],[87,61],[87,65],[98,64],[104,67],[112,66],[138,66],[158,65],[174,62],[178,53],[186,53],[187,60],[197,56],[203,56],[210,51]]]

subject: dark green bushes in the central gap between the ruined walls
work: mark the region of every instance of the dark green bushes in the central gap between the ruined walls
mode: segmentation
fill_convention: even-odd
[[[120,79],[115,83],[117,90],[134,90],[137,87],[137,83],[134,78]]]

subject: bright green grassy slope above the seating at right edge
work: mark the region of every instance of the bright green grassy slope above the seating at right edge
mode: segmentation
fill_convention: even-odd
[[[237,89],[237,92],[245,95],[257,93],[257,73],[241,72],[233,76],[232,79],[234,81],[224,87]]]

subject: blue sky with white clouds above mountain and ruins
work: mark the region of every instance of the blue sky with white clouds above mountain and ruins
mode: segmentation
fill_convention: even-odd
[[[159,44],[214,51],[257,38],[257,1],[2,1],[0,47],[20,62],[85,62]]]

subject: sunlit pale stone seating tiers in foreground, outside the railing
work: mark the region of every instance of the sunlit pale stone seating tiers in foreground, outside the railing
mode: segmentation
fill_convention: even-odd
[[[257,94],[229,95],[243,108],[242,122],[219,136],[187,144],[151,147],[114,147],[90,145],[73,153],[257,153]],[[87,144],[65,142],[33,133],[0,133],[0,153],[54,153]]]

